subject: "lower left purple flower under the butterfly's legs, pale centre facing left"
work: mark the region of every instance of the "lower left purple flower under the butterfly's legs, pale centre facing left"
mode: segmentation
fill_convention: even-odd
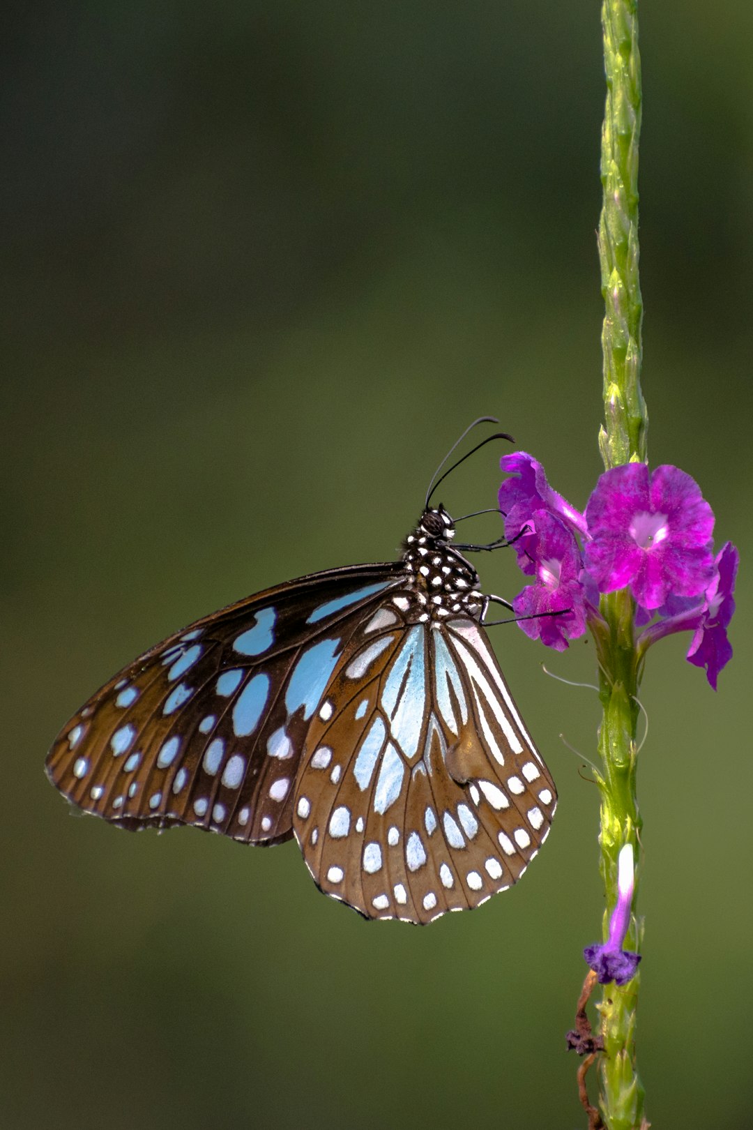
[[[520,617],[535,617],[518,620],[526,635],[564,651],[568,638],[575,640],[586,631],[580,549],[570,530],[546,510],[535,510],[531,516],[536,539],[536,556],[531,563],[536,581],[518,593],[513,608]]]

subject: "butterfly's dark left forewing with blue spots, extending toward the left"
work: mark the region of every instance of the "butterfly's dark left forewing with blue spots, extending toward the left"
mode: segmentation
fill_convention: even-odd
[[[204,617],[150,649],[78,711],[52,783],[121,827],[191,824],[290,838],[292,782],[340,657],[400,564],[313,574]]]

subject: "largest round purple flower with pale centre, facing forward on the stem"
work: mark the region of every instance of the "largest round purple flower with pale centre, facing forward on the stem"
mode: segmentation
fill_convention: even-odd
[[[586,506],[586,570],[602,592],[630,585],[646,609],[669,593],[700,596],[713,575],[713,513],[694,479],[677,467],[615,467]]]

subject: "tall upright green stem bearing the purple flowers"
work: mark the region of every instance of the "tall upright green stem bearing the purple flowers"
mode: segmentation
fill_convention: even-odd
[[[602,131],[603,206],[598,252],[605,314],[605,424],[599,449],[607,469],[647,460],[648,414],[640,389],[642,302],[638,277],[638,140],[641,90],[636,0],[603,0],[606,106]],[[640,872],[640,827],[636,793],[637,694],[640,669],[636,653],[634,603],[627,590],[602,598],[605,624],[595,629],[599,695],[604,716],[598,737],[603,764],[601,789],[601,872],[606,909],[603,937],[618,897],[618,855],[633,845]],[[642,923],[633,916],[627,949],[638,949]],[[640,977],[605,986],[598,1010],[604,1052],[599,1057],[599,1105],[608,1130],[640,1130],[645,1123],[643,1088],[636,1064],[636,1019]]]

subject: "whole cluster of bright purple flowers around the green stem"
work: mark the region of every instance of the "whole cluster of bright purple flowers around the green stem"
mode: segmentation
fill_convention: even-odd
[[[499,488],[505,534],[534,579],[513,601],[523,631],[563,651],[601,620],[599,593],[628,588],[639,652],[692,632],[688,659],[716,689],[732,658],[738,555],[728,541],[715,556],[713,513],[695,480],[677,467],[627,463],[601,476],[581,514],[526,452],[504,455],[501,468],[509,476]]]

